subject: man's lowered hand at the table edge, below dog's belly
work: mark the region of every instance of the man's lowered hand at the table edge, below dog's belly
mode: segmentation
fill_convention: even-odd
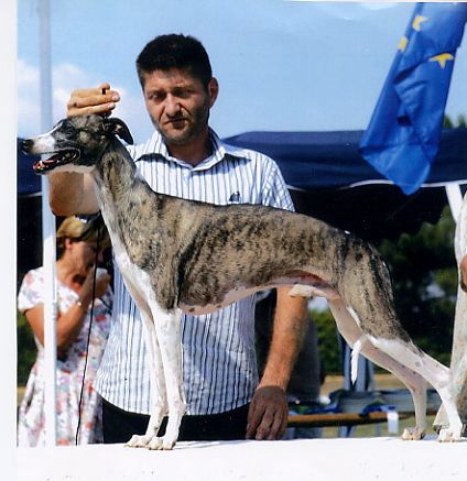
[[[247,439],[281,439],[287,417],[285,392],[279,386],[258,387],[248,412]]]

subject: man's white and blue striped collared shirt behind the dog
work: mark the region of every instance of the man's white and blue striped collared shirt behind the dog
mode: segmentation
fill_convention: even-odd
[[[193,166],[169,155],[158,132],[128,146],[139,174],[158,193],[204,203],[262,204],[292,210],[276,164],[222,143],[210,131],[213,155]],[[187,414],[217,414],[251,401],[258,385],[254,296],[215,314],[183,316],[183,371]],[[129,412],[150,413],[150,381],[138,308],[116,265],[112,326],[96,389]]]

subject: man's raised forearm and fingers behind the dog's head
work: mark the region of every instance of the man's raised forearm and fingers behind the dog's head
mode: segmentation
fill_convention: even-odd
[[[105,83],[97,88],[74,90],[66,105],[67,117],[105,113],[115,109],[120,100],[117,91]],[[95,214],[99,210],[90,175],[52,173],[48,175],[48,203],[56,216]]]

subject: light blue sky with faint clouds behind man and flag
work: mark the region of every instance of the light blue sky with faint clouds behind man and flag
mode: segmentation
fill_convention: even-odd
[[[40,0],[18,0],[18,133],[41,132]],[[163,33],[196,36],[220,84],[210,123],[247,131],[366,129],[414,3],[51,0],[53,122],[75,88],[109,81],[137,142],[153,131],[134,61]],[[467,114],[466,40],[446,112]]]

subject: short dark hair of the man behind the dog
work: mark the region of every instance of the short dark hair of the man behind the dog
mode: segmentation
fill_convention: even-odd
[[[206,89],[213,78],[213,69],[205,47],[189,35],[156,36],[145,45],[137,58],[137,72],[141,87],[144,87],[144,74],[171,68],[187,70],[200,80]]]

